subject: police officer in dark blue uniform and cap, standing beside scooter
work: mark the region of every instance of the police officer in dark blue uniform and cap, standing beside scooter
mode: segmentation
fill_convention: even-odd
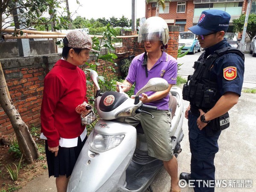
[[[218,137],[229,126],[228,111],[241,96],[244,55],[224,38],[229,21],[227,12],[211,9],[203,11],[198,24],[189,28],[205,48],[183,87],[183,99],[190,102],[185,117],[192,156],[191,174],[183,172],[180,179],[193,182],[195,192],[214,191]]]

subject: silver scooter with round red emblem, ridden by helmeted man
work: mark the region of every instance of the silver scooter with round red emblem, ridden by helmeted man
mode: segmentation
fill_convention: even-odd
[[[163,161],[148,156],[148,148],[141,126],[133,127],[116,119],[148,113],[145,109],[157,110],[144,105],[140,94],[145,91],[162,91],[168,83],[162,78],[152,78],[137,92],[135,99],[126,93],[107,91],[100,93],[96,71],[90,72],[96,91],[96,108],[100,120],[90,133],[67,187],[68,192],[144,192],[157,173],[163,168]],[[170,91],[169,106],[172,112],[172,150],[177,157],[182,149],[184,137],[182,92],[178,87]],[[151,115],[148,113],[148,115]],[[152,116],[152,115],[151,115]],[[154,118],[154,116],[152,116]],[[151,190],[152,191],[152,190]]]

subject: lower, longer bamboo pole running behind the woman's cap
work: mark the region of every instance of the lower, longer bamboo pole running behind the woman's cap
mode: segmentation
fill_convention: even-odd
[[[41,34],[37,34],[37,35],[28,35],[28,34],[24,34],[24,35],[20,35],[20,36],[13,36],[13,35],[2,35],[3,39],[26,39],[26,38],[64,38],[66,36],[66,34],[61,34],[61,35],[41,35]],[[93,37],[97,37],[97,38],[102,38],[102,35],[89,35],[91,38]],[[138,35],[129,35],[129,36],[116,36],[116,38],[135,38],[138,37]],[[112,37],[114,38],[114,37]]]

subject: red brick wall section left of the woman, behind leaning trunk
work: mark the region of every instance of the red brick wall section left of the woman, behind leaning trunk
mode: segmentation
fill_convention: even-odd
[[[27,125],[40,124],[45,75],[42,62],[42,56],[23,58],[23,62],[19,58],[1,61],[12,102]],[[0,108],[0,132],[8,134],[12,131],[8,116]]]

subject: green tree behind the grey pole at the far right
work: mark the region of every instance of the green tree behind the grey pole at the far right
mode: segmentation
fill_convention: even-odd
[[[238,19],[233,19],[234,32],[243,32],[245,15],[242,14]],[[256,14],[251,13],[248,17],[246,32],[250,37],[250,40],[256,35]]]

